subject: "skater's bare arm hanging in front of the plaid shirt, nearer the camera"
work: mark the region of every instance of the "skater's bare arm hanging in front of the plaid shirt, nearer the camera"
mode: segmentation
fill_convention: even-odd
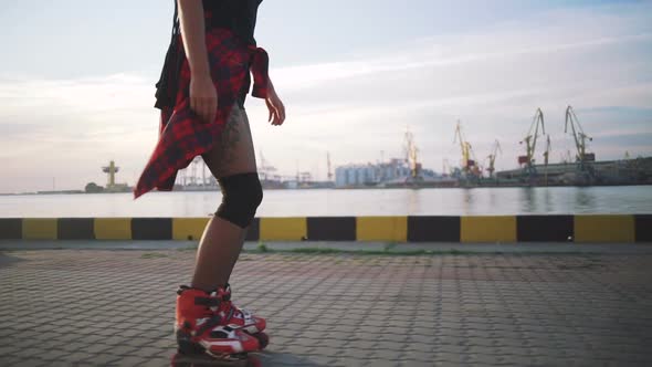
[[[201,0],[177,0],[183,50],[190,66],[190,108],[211,123],[218,109],[218,92],[211,78],[206,50],[206,24]]]

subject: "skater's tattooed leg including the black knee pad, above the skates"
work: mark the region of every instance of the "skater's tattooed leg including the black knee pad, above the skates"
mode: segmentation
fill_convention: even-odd
[[[244,228],[262,200],[251,129],[243,108],[233,106],[220,141],[202,157],[220,182],[223,200],[199,242],[191,286],[211,291],[229,281],[242,250]]]

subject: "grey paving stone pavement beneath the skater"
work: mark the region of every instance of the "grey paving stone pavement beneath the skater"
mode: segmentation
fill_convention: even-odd
[[[194,252],[0,252],[0,366],[166,366]],[[652,254],[251,254],[263,366],[650,366]]]

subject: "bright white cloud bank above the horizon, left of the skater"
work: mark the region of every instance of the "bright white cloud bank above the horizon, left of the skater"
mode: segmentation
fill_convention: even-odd
[[[157,137],[153,91],[149,81],[128,74],[60,81],[3,75],[0,160],[12,180],[0,191],[50,188],[42,182],[51,177],[59,177],[60,188],[80,189],[102,182],[99,166],[109,159],[133,181]]]

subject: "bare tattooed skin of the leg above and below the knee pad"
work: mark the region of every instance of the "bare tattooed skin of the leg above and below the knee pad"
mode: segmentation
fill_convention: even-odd
[[[218,181],[221,177],[256,171],[244,109],[233,106],[220,141],[202,157]],[[244,237],[244,229],[217,216],[211,218],[199,241],[191,286],[206,291],[224,286],[242,251]]]

